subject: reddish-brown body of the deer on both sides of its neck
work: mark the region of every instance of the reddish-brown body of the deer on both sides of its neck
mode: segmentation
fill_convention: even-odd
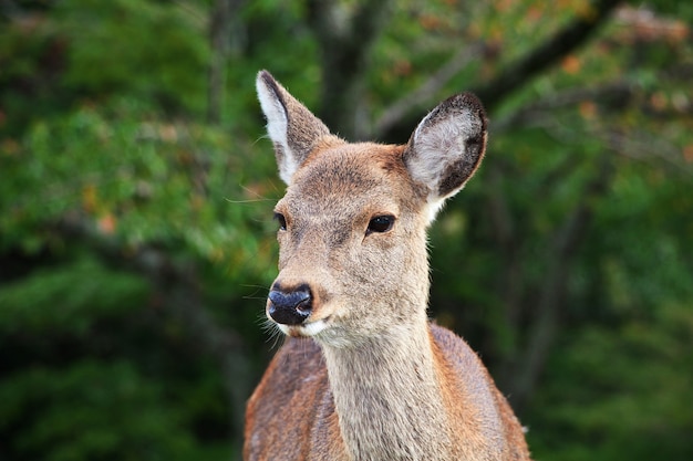
[[[444,388],[444,401],[451,417],[464,421],[452,431],[457,449],[451,459],[529,459],[521,427],[477,355],[452,332],[435,324],[430,328],[443,358],[441,380],[452,384]],[[311,338],[287,338],[248,401],[244,459],[350,459],[325,362]]]

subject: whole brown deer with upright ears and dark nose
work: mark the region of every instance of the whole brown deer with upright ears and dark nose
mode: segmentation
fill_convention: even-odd
[[[472,348],[428,319],[426,232],[478,169],[487,119],[449,97],[405,145],[348,143],[267,71],[257,93],[286,195],[266,304],[286,338],[248,400],[245,460],[529,460]]]

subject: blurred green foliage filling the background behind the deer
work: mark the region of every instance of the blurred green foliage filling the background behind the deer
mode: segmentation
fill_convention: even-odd
[[[365,2],[325,4],[346,21]],[[283,190],[254,78],[320,107],[311,6],[1,2],[0,459],[238,457],[276,342]],[[332,128],[382,139],[385,116],[485,88],[594,8],[391,4],[355,122]],[[692,23],[689,4],[624,3],[527,76],[432,228],[432,316],[480,352],[536,459],[693,457]]]

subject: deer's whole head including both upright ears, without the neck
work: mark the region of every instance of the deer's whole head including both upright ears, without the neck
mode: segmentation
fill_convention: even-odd
[[[486,147],[479,101],[441,103],[403,146],[350,144],[268,72],[257,91],[286,196],[267,315],[291,336],[349,347],[426,322],[426,229]],[[339,108],[334,108],[339,111]]]

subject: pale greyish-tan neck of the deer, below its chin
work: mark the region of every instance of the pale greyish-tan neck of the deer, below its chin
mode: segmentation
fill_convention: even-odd
[[[445,460],[447,416],[425,316],[358,347],[323,345],[340,430],[353,460]]]

